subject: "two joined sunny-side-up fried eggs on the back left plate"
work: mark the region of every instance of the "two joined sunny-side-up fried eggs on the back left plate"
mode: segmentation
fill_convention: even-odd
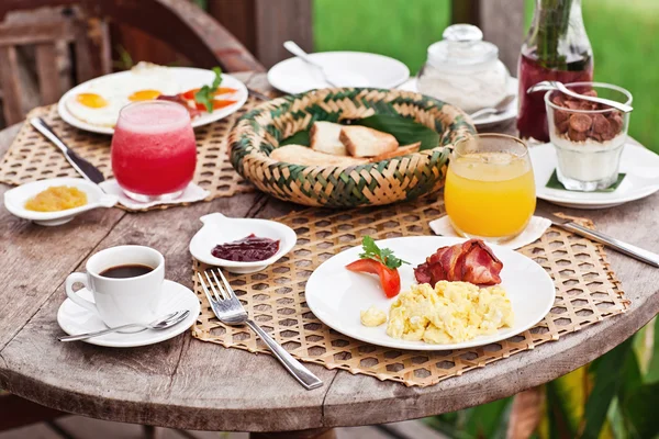
[[[123,75],[98,78],[67,99],[74,117],[96,126],[114,127],[121,109],[131,102],[149,101],[160,94],[177,94],[181,87],[167,67],[139,63]]]

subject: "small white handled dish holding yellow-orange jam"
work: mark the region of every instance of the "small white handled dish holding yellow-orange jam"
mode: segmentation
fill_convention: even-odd
[[[34,212],[25,209],[25,203],[29,199],[55,185],[68,185],[79,189],[87,194],[87,204],[59,212]],[[81,178],[71,177],[33,181],[4,192],[4,207],[9,212],[20,218],[31,219],[42,226],[58,226],[68,223],[82,212],[97,207],[112,207],[116,202],[118,198],[115,195],[107,194],[97,184]]]

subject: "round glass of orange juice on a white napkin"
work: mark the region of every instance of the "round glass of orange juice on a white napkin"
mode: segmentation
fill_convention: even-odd
[[[526,145],[504,134],[459,140],[448,164],[444,202],[461,236],[505,243],[520,235],[536,205]]]

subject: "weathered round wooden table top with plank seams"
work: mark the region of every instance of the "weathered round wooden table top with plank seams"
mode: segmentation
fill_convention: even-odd
[[[265,89],[264,75],[242,79]],[[18,128],[0,132],[1,155]],[[1,193],[8,189],[0,184]],[[381,424],[461,409],[554,380],[611,350],[659,311],[659,270],[610,250],[632,301],[626,314],[424,389],[308,364],[325,383],[308,392],[273,358],[201,342],[189,333],[134,349],[57,341],[64,280],[83,271],[93,252],[125,244],[155,247],[165,255],[167,278],[191,286],[188,244],[200,216],[222,212],[267,218],[293,209],[254,192],[137,214],[99,209],[59,227],[41,227],[1,209],[0,387],[65,412],[185,429],[280,431]],[[616,209],[562,211],[659,250],[659,193]]]

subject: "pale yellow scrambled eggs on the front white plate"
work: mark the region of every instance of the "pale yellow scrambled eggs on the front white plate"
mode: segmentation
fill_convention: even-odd
[[[412,285],[389,311],[387,334],[404,340],[456,344],[513,325],[513,308],[499,285],[479,289],[468,282]]]

